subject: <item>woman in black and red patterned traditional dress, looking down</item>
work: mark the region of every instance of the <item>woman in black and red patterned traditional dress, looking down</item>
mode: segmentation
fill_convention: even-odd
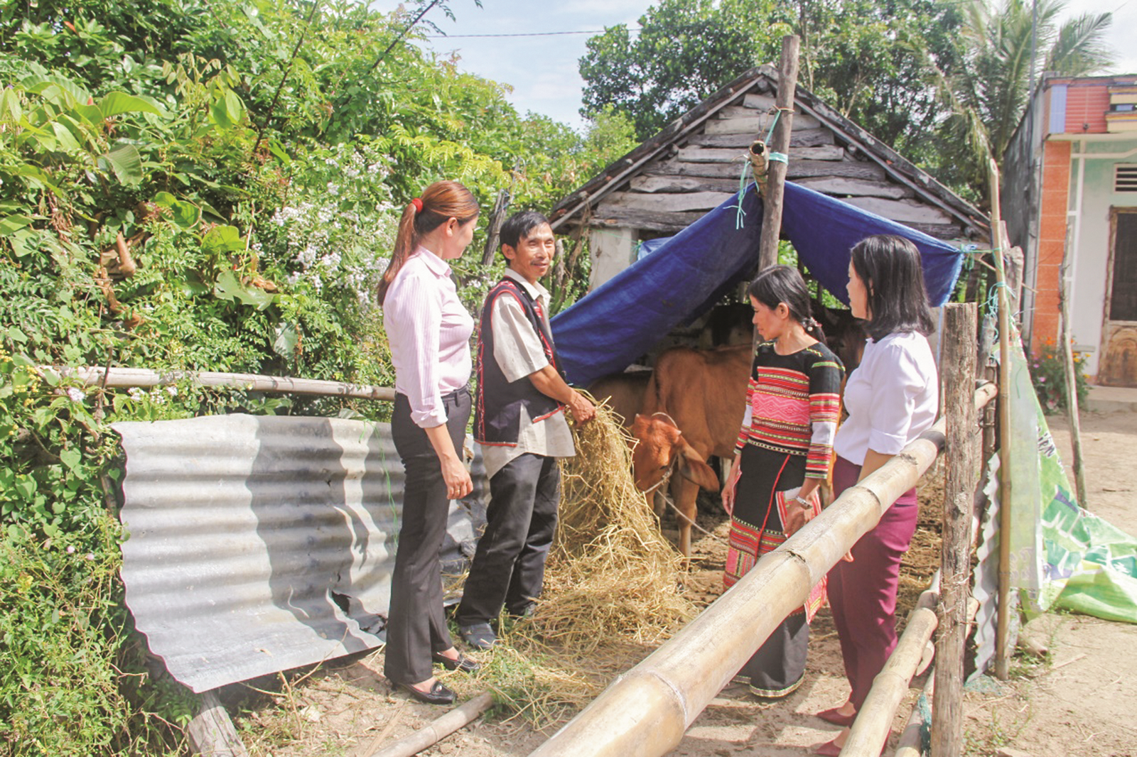
[[[805,282],[789,266],[750,283],[762,336],[746,391],[746,414],[722,490],[731,515],[723,583],[729,589],[769,551],[820,514],[818,486],[829,474],[844,368],[810,316]],[[824,581],[774,630],[739,671],[758,697],[780,698],[805,677],[810,621],[824,602]]]

